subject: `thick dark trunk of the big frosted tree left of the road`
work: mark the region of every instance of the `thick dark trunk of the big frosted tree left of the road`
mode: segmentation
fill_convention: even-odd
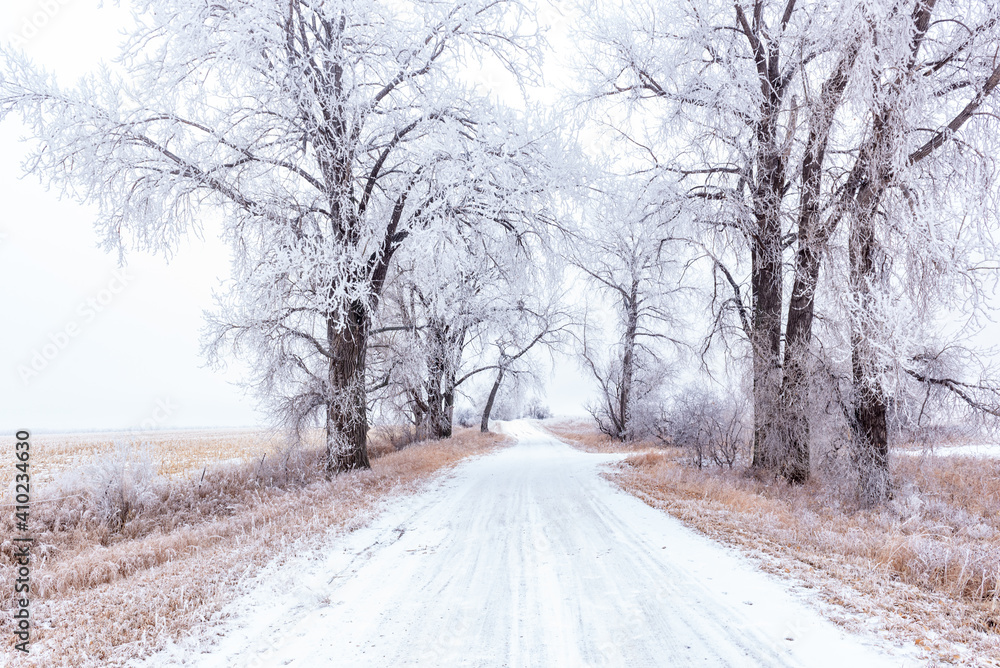
[[[360,301],[352,302],[347,323],[338,329],[327,322],[332,398],[327,404],[327,475],[370,468],[368,461],[368,405],[365,396],[365,361],[368,350],[368,314]]]

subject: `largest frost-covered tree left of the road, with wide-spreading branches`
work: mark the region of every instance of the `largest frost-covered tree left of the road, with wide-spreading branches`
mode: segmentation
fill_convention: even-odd
[[[118,67],[62,88],[3,53],[0,115],[29,170],[98,205],[110,248],[169,253],[221,214],[230,289],[209,351],[232,345],[274,416],[318,420],[330,472],[368,466],[365,370],[394,254],[463,207],[523,234],[534,191],[506,119],[463,62],[536,69],[515,0],[147,0]],[[492,196],[483,196],[489,192]]]

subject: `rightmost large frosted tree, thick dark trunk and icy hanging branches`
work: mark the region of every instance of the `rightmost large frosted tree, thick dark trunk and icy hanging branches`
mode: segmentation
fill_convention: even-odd
[[[894,354],[894,348],[908,346],[891,343],[898,341],[898,332],[885,327],[896,320],[886,298],[897,291],[893,283],[901,282],[927,303],[938,288],[935,283],[944,278],[950,284],[956,270],[964,270],[957,253],[965,238],[975,236],[980,253],[993,246],[983,226],[995,212],[984,216],[975,204],[991,186],[984,191],[974,179],[956,183],[954,176],[985,170],[988,179],[995,177],[987,154],[997,147],[991,135],[998,130],[1000,8],[988,2],[913,0],[888,14],[870,11],[870,55],[859,73],[864,77],[859,100],[864,134],[852,147],[853,165],[836,184],[827,225],[849,224],[850,425],[860,497],[876,504],[889,494],[893,370],[935,381],[915,371],[914,359],[905,352],[902,359]],[[948,182],[954,191],[942,190]],[[917,272],[894,267],[892,237],[910,246],[906,254],[911,257],[933,257],[944,247],[951,261],[918,262]]]

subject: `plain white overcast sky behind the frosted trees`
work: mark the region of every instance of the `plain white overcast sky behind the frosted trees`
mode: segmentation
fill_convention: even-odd
[[[70,85],[117,55],[130,22],[127,10],[97,5],[3,0],[0,39],[26,38],[25,51]],[[240,365],[217,372],[199,352],[203,312],[229,275],[217,227],[206,224],[205,238],[187,240],[169,263],[130,253],[120,269],[98,247],[92,209],[22,177],[21,134],[14,117],[0,123],[0,430],[262,424],[235,384]],[[25,378],[36,355],[42,368]],[[573,360],[557,366],[549,406],[582,414],[592,383]]]

